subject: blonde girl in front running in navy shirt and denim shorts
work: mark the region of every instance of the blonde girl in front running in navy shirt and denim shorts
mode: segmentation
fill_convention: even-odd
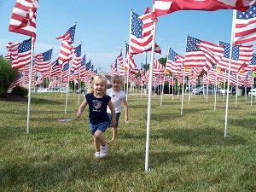
[[[95,157],[102,158],[108,154],[108,144],[102,134],[107,130],[109,118],[107,106],[110,108],[113,125],[116,124],[115,113],[111,97],[106,95],[107,79],[105,76],[98,74],[91,82],[90,93],[85,95],[84,102],[79,106],[77,117],[80,118],[84,108],[89,105],[90,132],[94,138],[96,149]]]

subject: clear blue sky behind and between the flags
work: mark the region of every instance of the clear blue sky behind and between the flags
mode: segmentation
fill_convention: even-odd
[[[22,42],[28,36],[9,32],[9,20],[16,0],[0,0],[0,55],[6,55],[8,42]],[[77,22],[74,46],[82,42],[82,55],[94,64],[98,72],[110,72],[110,65],[123,50],[130,38],[131,9],[143,15],[146,8],[153,8],[153,0],[39,0],[37,12],[37,40],[34,54],[54,48],[53,61],[61,47],[60,37]],[[171,47],[179,55],[185,54],[187,35],[218,44],[230,43],[232,10],[177,11],[159,18],[155,41],[166,57]],[[150,61],[149,54],[135,55],[137,67]]]

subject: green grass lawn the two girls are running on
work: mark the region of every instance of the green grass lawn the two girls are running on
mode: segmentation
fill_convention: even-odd
[[[78,95],[32,95],[30,133],[26,102],[0,102],[0,191],[256,191],[256,102],[193,96],[152,96],[149,168],[145,172],[148,99],[129,96],[130,122],[119,120],[119,140],[95,160],[88,124],[72,118]],[[80,98],[82,102],[82,96]],[[111,130],[104,133],[109,140]]]

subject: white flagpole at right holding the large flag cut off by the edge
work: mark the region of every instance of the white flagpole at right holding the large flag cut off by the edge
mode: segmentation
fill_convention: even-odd
[[[236,18],[236,10],[233,10],[233,18],[232,18],[232,31],[231,31],[231,38],[230,38],[230,64],[229,64],[229,76],[228,76],[228,90],[230,89],[230,69],[231,69],[231,58],[232,58],[232,44],[234,42],[234,28],[235,28],[235,22],[234,18]],[[229,108],[229,95],[227,93],[227,99],[226,99],[226,112],[225,112],[225,126],[224,126],[224,137],[228,136],[228,108]]]

